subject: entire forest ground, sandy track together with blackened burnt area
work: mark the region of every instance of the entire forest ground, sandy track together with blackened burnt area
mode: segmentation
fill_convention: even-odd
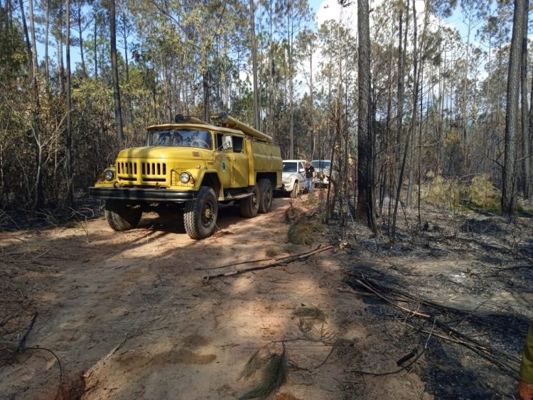
[[[289,202],[317,201],[277,198],[252,220],[225,207],[203,241],[156,215],[122,234],[99,218],[0,233],[0,396],[234,399],[262,380],[262,367],[242,377],[255,352],[285,349],[278,399],[512,398],[533,318],[532,217],[425,209],[419,225],[406,212],[394,245],[333,218],[291,244]]]

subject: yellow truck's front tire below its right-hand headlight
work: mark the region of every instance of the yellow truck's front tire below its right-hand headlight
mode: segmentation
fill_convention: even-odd
[[[215,232],[217,226],[218,201],[215,190],[202,186],[198,198],[185,203],[185,232],[191,239],[204,239]]]

